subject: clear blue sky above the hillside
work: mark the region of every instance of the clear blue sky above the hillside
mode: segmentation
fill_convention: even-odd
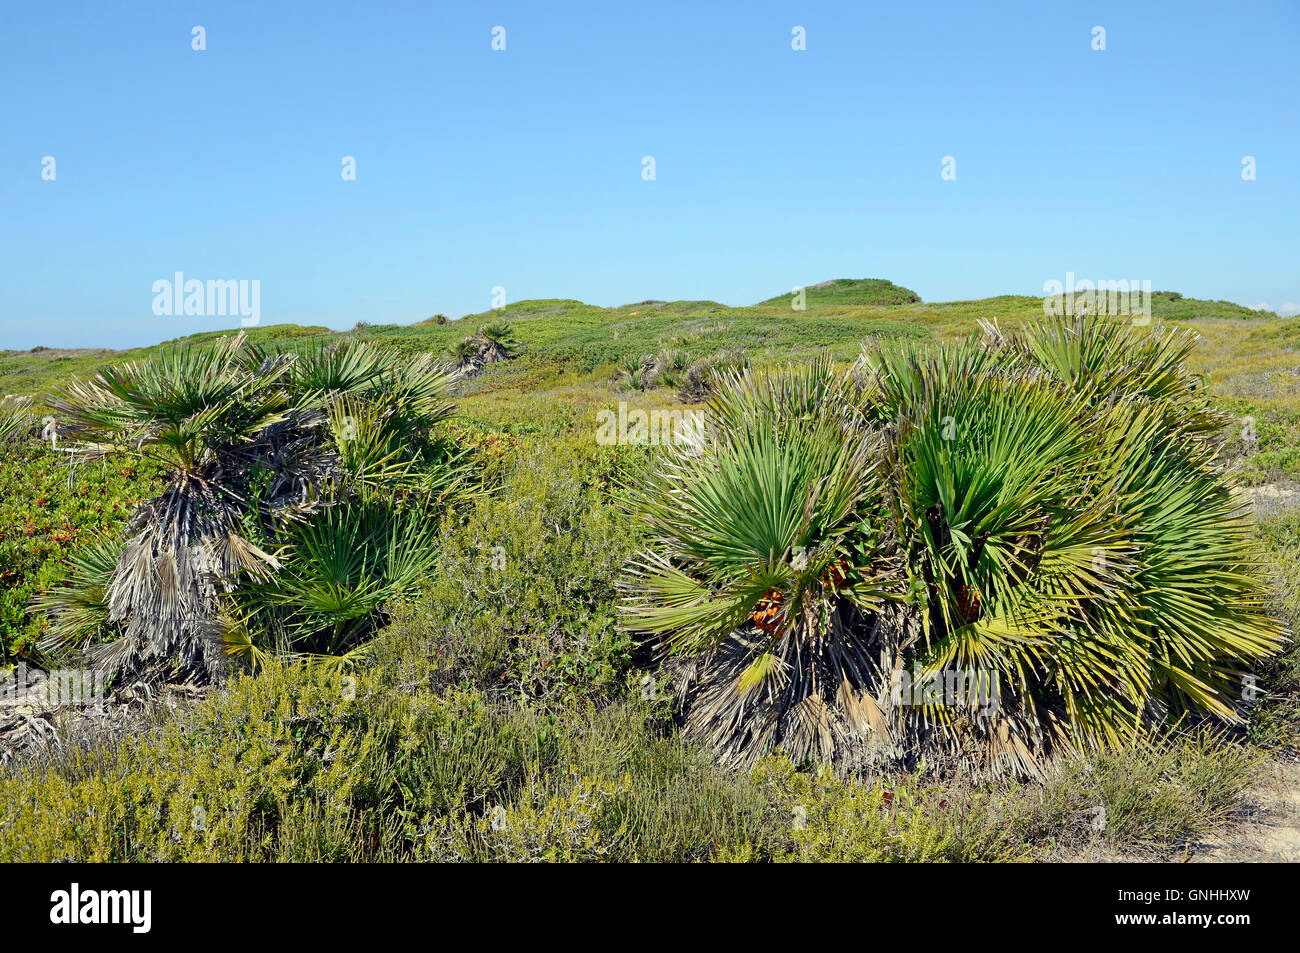
[[[1297,48],[1295,0],[6,4],[0,348],[238,325],[155,315],[176,272],[334,328],[1066,272],[1296,307]]]

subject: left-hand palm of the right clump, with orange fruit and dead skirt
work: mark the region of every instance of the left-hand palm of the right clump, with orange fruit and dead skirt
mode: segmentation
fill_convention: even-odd
[[[875,445],[831,367],[736,374],[703,445],[637,488],[654,549],[629,571],[629,624],[692,658],[690,728],[722,757],[831,758],[868,731],[872,666],[855,619],[885,593],[863,562]],[[867,554],[870,555],[870,554]]]

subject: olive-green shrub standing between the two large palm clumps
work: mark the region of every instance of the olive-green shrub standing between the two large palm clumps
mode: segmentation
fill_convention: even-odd
[[[636,543],[592,485],[592,455],[551,442],[523,452],[498,493],[448,517],[425,598],[389,636],[428,646],[447,684],[528,698],[618,694],[632,662],[614,595]]]

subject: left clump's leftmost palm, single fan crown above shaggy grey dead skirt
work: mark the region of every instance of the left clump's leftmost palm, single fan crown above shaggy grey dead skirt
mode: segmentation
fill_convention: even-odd
[[[289,417],[287,361],[252,367],[243,335],[214,347],[181,347],[152,360],[104,368],[51,400],[74,460],[112,452],[156,458],[168,468],[161,495],[133,516],[108,586],[109,620],[124,637],[91,647],[103,668],[150,670],[178,658],[211,677],[212,618],[220,580],[273,566],[238,529],[243,499],[233,478],[252,438]],[[70,621],[68,624],[72,624]],[[51,644],[66,637],[56,614]]]

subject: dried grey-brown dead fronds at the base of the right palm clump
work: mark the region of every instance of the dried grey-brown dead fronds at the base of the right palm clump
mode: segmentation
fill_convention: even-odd
[[[760,633],[737,632],[712,651],[671,658],[684,729],[732,767],[783,751],[846,772],[926,762],[966,777],[1034,776],[1050,755],[1071,750],[1061,719],[1019,710],[1015,693],[927,701],[920,688],[910,692],[901,676],[918,634],[916,614],[890,605],[857,616],[836,638],[781,640],[772,653]],[[748,685],[764,653],[774,675]],[[944,672],[914,671],[918,686],[927,675],[944,685]]]

